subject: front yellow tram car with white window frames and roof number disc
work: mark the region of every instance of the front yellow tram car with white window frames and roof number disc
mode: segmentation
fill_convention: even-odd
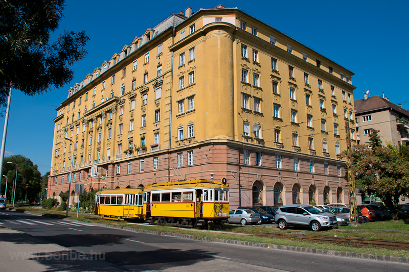
[[[144,189],[146,221],[182,227],[224,224],[229,218],[229,185],[208,180],[157,183]]]

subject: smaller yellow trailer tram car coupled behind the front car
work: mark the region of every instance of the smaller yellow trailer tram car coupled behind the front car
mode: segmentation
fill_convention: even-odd
[[[143,218],[143,191],[141,188],[99,191],[95,194],[95,211],[105,219]]]

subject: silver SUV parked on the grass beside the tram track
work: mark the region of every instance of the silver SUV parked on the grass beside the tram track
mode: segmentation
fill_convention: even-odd
[[[276,212],[278,227],[285,230],[288,226],[310,226],[313,231],[336,226],[336,217],[311,205],[294,204],[281,206]]]

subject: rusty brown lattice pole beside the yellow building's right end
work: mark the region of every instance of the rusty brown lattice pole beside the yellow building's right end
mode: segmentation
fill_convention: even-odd
[[[355,171],[352,159],[352,146],[351,146],[351,130],[349,129],[349,121],[345,121],[345,138],[347,140],[347,152],[348,152],[348,185],[349,185],[349,207],[351,226],[358,226],[358,207],[356,205],[356,192],[355,192]]]

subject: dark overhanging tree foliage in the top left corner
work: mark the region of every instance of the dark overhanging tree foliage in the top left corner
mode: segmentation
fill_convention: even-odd
[[[50,35],[63,17],[64,2],[0,1],[0,106],[7,104],[10,85],[34,95],[73,80],[69,66],[87,54],[84,47],[89,38],[84,31],[71,31],[50,44]]]

